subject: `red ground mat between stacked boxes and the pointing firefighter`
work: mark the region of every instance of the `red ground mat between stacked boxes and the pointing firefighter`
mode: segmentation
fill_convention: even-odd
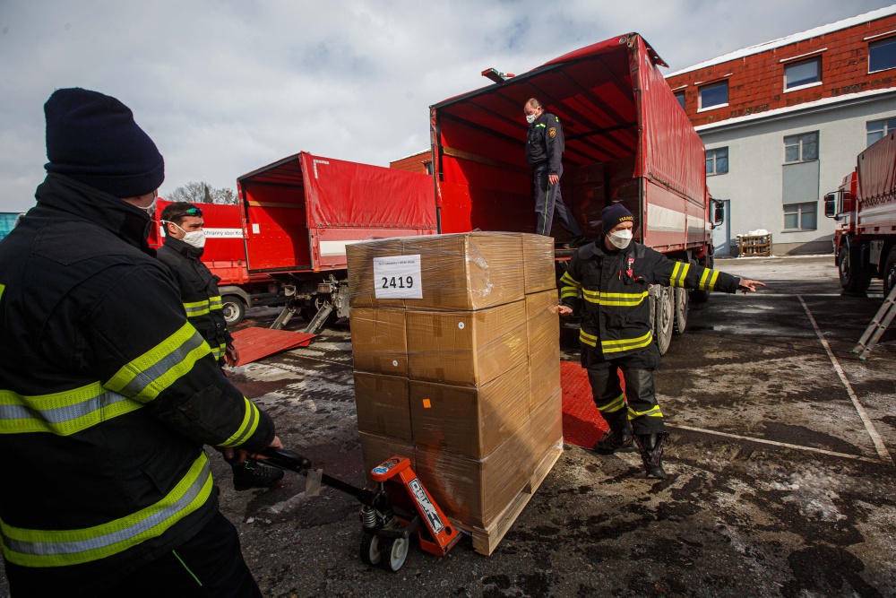
[[[619,374],[625,390],[622,372]],[[577,361],[561,361],[560,385],[563,386],[564,442],[585,448],[594,446],[609,428],[594,405],[588,373]]]

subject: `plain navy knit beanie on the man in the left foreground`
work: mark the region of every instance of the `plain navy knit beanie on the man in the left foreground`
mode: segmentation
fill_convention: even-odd
[[[47,172],[56,172],[116,197],[155,191],[165,160],[120,101],[97,91],[57,90],[44,104]]]

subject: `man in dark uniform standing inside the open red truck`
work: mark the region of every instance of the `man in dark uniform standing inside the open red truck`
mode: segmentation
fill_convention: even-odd
[[[526,134],[526,161],[532,171],[537,216],[535,232],[550,237],[556,212],[560,224],[571,236],[566,247],[578,247],[582,242],[582,230],[576,224],[573,212],[563,203],[560,194],[565,151],[563,126],[560,124],[560,119],[546,112],[536,98],[530,98],[522,110],[526,115],[526,122],[529,123],[529,131]]]

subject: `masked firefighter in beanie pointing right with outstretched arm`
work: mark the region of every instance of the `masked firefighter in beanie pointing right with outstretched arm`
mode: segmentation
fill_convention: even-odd
[[[650,285],[753,292],[762,282],[738,279],[697,264],[676,262],[632,242],[634,217],[621,204],[601,212],[604,234],[573,254],[560,278],[560,306],[568,316],[582,308],[582,367],[610,431],[594,445],[610,455],[629,448],[641,453],[647,477],[663,479],[668,433],[653,386],[659,348],[650,330]],[[625,393],[618,370],[625,377]]]

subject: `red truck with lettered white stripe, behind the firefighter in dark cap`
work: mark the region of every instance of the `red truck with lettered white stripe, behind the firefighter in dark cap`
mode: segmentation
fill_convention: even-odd
[[[150,230],[150,246],[162,244],[164,231],[160,223],[162,210],[171,204],[161,197],[152,217],[156,225]],[[243,320],[246,308],[262,305],[283,305],[288,298],[280,284],[266,274],[250,274],[246,264],[246,235],[240,206],[235,204],[197,204],[205,221],[205,249],[202,263],[220,279],[218,288],[223,301],[223,314],[228,325]]]

